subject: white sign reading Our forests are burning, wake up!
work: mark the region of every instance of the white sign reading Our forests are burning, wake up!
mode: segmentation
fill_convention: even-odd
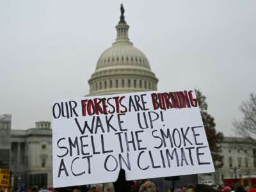
[[[193,90],[52,104],[54,188],[214,172]]]

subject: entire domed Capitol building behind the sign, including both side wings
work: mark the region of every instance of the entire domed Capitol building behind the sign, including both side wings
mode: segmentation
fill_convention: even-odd
[[[125,21],[123,7],[121,7],[120,20],[115,28],[115,42],[102,52],[97,60],[95,72],[88,80],[90,92],[84,95],[157,90],[158,79],[150,68],[147,56],[134,47],[129,40],[129,25]],[[31,129],[16,130],[11,129],[11,116],[2,115],[0,116],[0,131],[6,131],[6,134],[1,134],[6,143],[4,145],[0,143],[0,152],[5,154],[0,157],[0,165],[4,164],[6,168],[12,170],[13,189],[17,189],[22,184],[39,187],[52,186],[51,122],[36,122],[35,127]],[[216,174],[219,174],[219,181],[225,177],[234,177],[230,168],[235,166],[240,167],[240,174],[256,175],[255,149],[248,149],[246,158],[244,158],[243,150],[238,152],[239,148],[246,146],[246,143],[237,142],[232,138],[225,139],[223,143],[224,166],[223,169],[216,170]],[[256,145],[253,146],[256,148]]]

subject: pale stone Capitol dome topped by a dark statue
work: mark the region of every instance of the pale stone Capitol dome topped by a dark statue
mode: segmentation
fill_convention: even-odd
[[[96,70],[88,81],[89,95],[157,90],[158,80],[145,54],[130,42],[128,29],[121,5],[116,41],[100,55]]]

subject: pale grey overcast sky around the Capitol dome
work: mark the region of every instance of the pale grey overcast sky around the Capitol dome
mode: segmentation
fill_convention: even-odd
[[[12,114],[12,129],[51,120],[52,100],[88,93],[120,3],[158,89],[200,89],[216,128],[234,135],[241,102],[256,92],[254,0],[0,1],[0,115]]]

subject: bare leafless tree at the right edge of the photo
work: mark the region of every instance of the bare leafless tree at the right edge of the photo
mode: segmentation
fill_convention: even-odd
[[[250,99],[241,104],[240,110],[244,115],[243,120],[233,122],[234,131],[253,140],[256,138],[256,95],[251,93]]]

